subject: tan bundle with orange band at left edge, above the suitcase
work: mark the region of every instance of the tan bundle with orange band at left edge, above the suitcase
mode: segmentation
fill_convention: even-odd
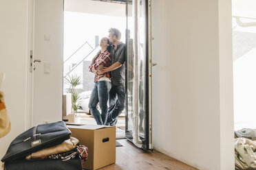
[[[0,91],[0,138],[6,136],[10,132],[11,123],[4,102],[5,95]]]

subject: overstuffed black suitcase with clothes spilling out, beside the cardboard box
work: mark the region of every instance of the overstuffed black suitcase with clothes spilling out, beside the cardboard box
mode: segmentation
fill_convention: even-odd
[[[10,143],[1,161],[4,170],[82,170],[88,148],[63,121],[36,125]]]

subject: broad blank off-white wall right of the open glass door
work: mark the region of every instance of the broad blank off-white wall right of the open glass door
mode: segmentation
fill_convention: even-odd
[[[154,0],[153,147],[234,169],[231,1]]]

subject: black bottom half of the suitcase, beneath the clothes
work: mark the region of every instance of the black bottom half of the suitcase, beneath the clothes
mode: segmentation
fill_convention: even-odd
[[[5,164],[5,170],[82,170],[81,159],[70,160],[18,160]]]

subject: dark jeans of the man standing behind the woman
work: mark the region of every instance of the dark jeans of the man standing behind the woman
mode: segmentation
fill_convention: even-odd
[[[109,92],[109,113],[106,125],[116,125],[117,117],[125,109],[125,85],[112,86]]]

